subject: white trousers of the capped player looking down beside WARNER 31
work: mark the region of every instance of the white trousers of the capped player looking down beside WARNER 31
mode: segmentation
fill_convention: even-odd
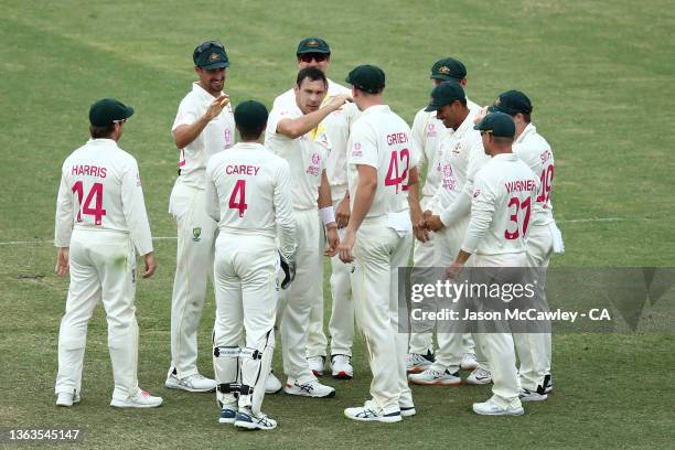
[[[449,267],[462,246],[469,216],[460,219],[456,224],[443,227],[436,234],[436,246],[433,247],[433,266]],[[473,261],[469,260],[469,265]],[[438,351],[432,368],[438,372],[449,371],[456,373],[460,369],[462,355],[464,353],[475,353],[479,365],[489,368],[488,358],[478,343],[472,339],[472,333],[443,333],[436,335],[438,340]]]

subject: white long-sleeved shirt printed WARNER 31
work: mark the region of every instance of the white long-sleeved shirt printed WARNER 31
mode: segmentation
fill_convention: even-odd
[[[490,159],[476,173],[471,222],[462,249],[478,255],[525,253],[539,181],[514,153]]]

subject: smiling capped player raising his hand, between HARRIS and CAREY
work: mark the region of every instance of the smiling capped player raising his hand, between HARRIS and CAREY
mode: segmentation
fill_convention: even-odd
[[[211,392],[216,383],[196,366],[197,326],[213,275],[216,222],[204,206],[204,172],[208,158],[233,146],[235,125],[229,98],[223,93],[227,53],[207,41],[193,53],[199,81],[181,101],[171,129],[180,152],[179,178],[171,191],[169,212],[178,225],[178,251],[171,300],[171,367],[165,386]]]

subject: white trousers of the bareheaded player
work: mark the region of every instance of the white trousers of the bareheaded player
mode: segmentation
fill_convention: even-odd
[[[283,372],[303,384],[315,379],[307,362],[307,335],[310,311],[323,304],[322,234],[319,211],[294,210],[296,218],[296,279],[279,292]]]

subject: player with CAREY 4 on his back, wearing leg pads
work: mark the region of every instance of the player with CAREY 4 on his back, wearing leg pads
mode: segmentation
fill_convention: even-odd
[[[245,101],[234,111],[242,142],[206,165],[206,210],[218,223],[213,366],[222,424],[270,430],[260,411],[275,350],[279,254],[292,261],[296,222],[288,162],[259,143],[267,109]],[[279,250],[275,238],[279,239]],[[246,331],[246,346],[240,336]]]

